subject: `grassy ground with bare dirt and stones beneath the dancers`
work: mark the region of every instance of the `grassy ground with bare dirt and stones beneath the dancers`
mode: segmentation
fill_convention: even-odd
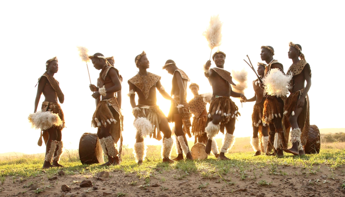
[[[243,141],[245,142],[246,140]],[[119,184],[117,191],[120,191],[122,188],[124,190],[123,192],[126,192],[129,196],[136,196],[137,194],[134,193],[136,190],[140,192],[142,188],[146,188],[147,190],[152,181],[160,183],[160,185],[165,184],[165,186],[158,188],[160,192],[168,192],[169,190],[172,192],[179,192],[181,189],[176,190],[171,187],[175,187],[175,182],[180,183],[183,180],[190,182],[188,184],[192,184],[192,182],[196,184],[195,186],[190,185],[193,186],[196,191],[200,190],[201,192],[206,190],[206,192],[201,192],[200,195],[193,194],[194,196],[210,194],[210,191],[208,191],[210,189],[207,188],[220,190],[216,192],[217,195],[220,195],[223,191],[224,194],[227,192],[235,192],[236,189],[239,188],[248,188],[249,192],[250,187],[256,187],[266,194],[270,194],[271,192],[272,194],[279,194],[275,192],[278,191],[277,189],[272,188],[284,186],[282,189],[285,189],[285,185],[281,186],[283,183],[282,180],[284,180],[284,184],[286,184],[287,181],[292,181],[289,180],[292,177],[296,179],[295,184],[291,186],[293,188],[298,186],[298,189],[306,189],[306,191],[310,192],[311,189],[307,188],[311,186],[321,185],[319,186],[320,188],[325,186],[324,190],[319,190],[319,196],[330,195],[327,189],[331,189],[335,192],[336,190],[345,188],[345,171],[343,168],[345,164],[345,143],[323,143],[322,150],[319,154],[301,157],[286,154],[284,158],[272,156],[253,157],[252,155],[254,152],[251,150],[251,147],[247,147],[247,145],[240,147],[240,144],[240,141],[237,141],[237,146],[235,144],[236,148],[226,154],[226,156],[231,159],[229,161],[219,161],[216,160],[214,156],[209,156],[209,158],[202,161],[180,161],[174,164],[162,163],[160,158],[160,146],[148,146],[146,159],[143,165],[140,166],[134,161],[132,149],[128,149],[127,147],[124,147],[121,165],[108,167],[101,167],[99,164],[82,165],[79,161],[77,151],[65,151],[60,164],[66,167],[50,168],[44,171],[41,169],[43,164],[42,156],[24,155],[18,156],[17,158],[3,158],[0,160],[0,196],[5,193],[10,195],[24,191],[24,193],[29,195],[29,191],[27,191],[25,187],[34,183],[41,183],[43,185],[40,185],[41,189],[39,189],[39,193],[46,191],[46,194],[54,196],[61,193],[61,189],[59,188],[62,182],[66,182],[65,184],[67,185],[72,185],[79,183],[82,179],[90,179],[95,184],[97,182],[95,177],[97,173],[101,171],[110,172],[110,178],[107,180],[107,183],[110,185],[111,183],[115,184],[117,182],[116,180],[123,179],[125,185],[121,185],[117,182],[117,184]],[[244,150],[246,150],[246,152],[243,152]],[[174,156],[176,156],[176,153],[173,150],[172,157]],[[48,181],[48,179],[57,176],[60,170],[65,172],[61,182],[60,180]],[[275,179],[279,179],[279,181]],[[138,185],[134,187],[137,182]],[[333,185],[331,183],[333,183]],[[107,184],[104,183],[103,187],[106,187],[106,185]],[[328,187],[326,187],[326,185]],[[15,191],[13,193],[13,187],[18,187],[18,192]],[[134,187],[135,189],[131,189],[130,187]],[[183,187],[183,185],[180,187]],[[153,187],[150,188],[154,189]],[[106,187],[104,190],[107,189],[110,188]],[[316,190],[316,188],[313,188],[313,191]],[[329,192],[331,192],[331,190]],[[182,189],[182,191],[184,190]],[[30,192],[32,193],[32,191]],[[235,193],[236,195],[241,195],[241,192],[242,195],[243,193],[247,194],[244,189]],[[326,192],[325,195],[323,195],[322,192]],[[215,192],[212,191],[212,194],[214,193]],[[88,192],[79,191],[79,195],[87,194]],[[155,195],[156,194],[157,193],[155,193]],[[175,194],[182,195],[182,193]],[[184,194],[190,196],[190,194]],[[306,193],[301,190],[300,194],[303,196]],[[313,194],[317,195],[317,193]],[[343,195],[341,192],[337,192],[336,194]]]

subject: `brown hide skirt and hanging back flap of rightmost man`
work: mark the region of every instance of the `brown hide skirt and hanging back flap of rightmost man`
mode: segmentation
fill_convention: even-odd
[[[303,94],[304,89],[297,90],[289,95],[289,97],[285,100],[284,110],[287,106],[294,105],[293,107],[296,108],[297,101],[300,98],[300,96]],[[307,143],[308,138],[308,132],[310,129],[310,105],[309,105],[309,96],[307,95],[304,100],[304,106],[302,112],[299,114],[297,118],[298,128],[301,129],[302,135],[301,135],[301,142],[302,145],[305,145]],[[293,110],[294,111],[294,110]],[[286,118],[288,119],[292,113],[292,110],[288,110],[286,113]]]

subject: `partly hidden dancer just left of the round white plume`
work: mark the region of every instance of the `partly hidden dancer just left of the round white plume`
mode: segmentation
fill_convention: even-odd
[[[264,63],[258,63],[258,69],[257,74],[260,76],[260,78],[264,78],[265,74],[265,66]],[[261,152],[266,152],[267,149],[267,143],[268,143],[268,125],[266,125],[262,121],[262,112],[264,110],[264,90],[262,87],[260,87],[260,81],[259,79],[255,79],[253,81],[253,88],[255,95],[254,97],[248,99],[246,102],[253,102],[255,101],[255,105],[253,108],[253,114],[252,114],[252,123],[253,123],[253,138],[250,139],[250,144],[252,145],[255,155],[260,155]],[[260,135],[262,135],[262,139],[258,138],[258,133],[260,132]],[[262,148],[260,148],[260,140],[261,144],[263,145]],[[260,151],[260,149],[262,149]]]

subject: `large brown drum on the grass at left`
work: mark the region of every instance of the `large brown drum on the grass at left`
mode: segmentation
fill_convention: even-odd
[[[97,134],[82,134],[79,141],[79,158],[82,164],[104,163],[103,150]]]

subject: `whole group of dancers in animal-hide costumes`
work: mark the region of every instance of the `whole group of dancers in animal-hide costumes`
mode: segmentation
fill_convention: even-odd
[[[279,69],[284,74],[283,65],[273,58],[274,49],[271,46],[262,46],[260,53],[262,61],[258,63],[257,74],[264,79],[271,69]],[[238,97],[241,102],[255,101],[252,123],[253,138],[250,143],[256,155],[283,156],[285,152],[294,155],[303,155],[303,146],[306,143],[309,131],[309,99],[308,91],[311,87],[311,69],[305,61],[302,47],[292,42],[289,43],[288,57],[293,64],[289,67],[287,74],[293,75],[290,85],[290,95],[275,96],[265,92],[264,83],[259,79],[253,81],[255,91],[254,97],[247,99],[242,93],[232,90],[231,85],[236,85],[230,73],[224,69],[226,54],[217,51],[212,59],[216,67],[211,66],[211,61],[204,65],[204,74],[212,86],[212,94],[199,94],[199,86],[191,83],[188,75],[177,67],[177,64],[169,59],[162,69],[165,69],[172,77],[171,94],[169,95],[162,86],[161,77],[150,73],[147,69],[150,66],[148,57],[143,51],[135,57],[135,65],[139,72],[128,80],[129,99],[132,106],[132,113],[135,117],[134,127],[136,129],[136,143],[134,154],[136,162],[142,164],[145,158],[144,139],[149,136],[162,140],[161,156],[163,162],[174,163],[174,161],[193,159],[188,147],[186,134],[195,136],[195,143],[205,145],[205,152],[212,151],[215,157],[220,160],[228,160],[225,153],[235,143],[235,121],[240,112],[235,102],[230,97]],[[97,86],[90,85],[93,92],[92,97],[96,99],[97,107],[92,116],[93,127],[98,128],[97,136],[103,153],[108,156],[108,162],[102,165],[120,164],[122,149],[123,116],[121,114],[121,83],[122,76],[114,67],[114,57],[105,57],[96,53],[88,57],[93,66],[100,70]],[[47,124],[41,127],[39,145],[42,144],[42,136],[46,143],[46,156],[43,168],[61,167],[59,159],[62,154],[63,143],[61,131],[65,127],[65,120],[60,103],[64,101],[64,95],[59,87],[59,82],[53,77],[58,72],[58,59],[56,57],[46,62],[46,72],[38,80],[37,96],[34,112],[37,111],[41,94],[45,96],[40,112],[57,114],[60,122],[41,123]],[[306,81],[306,86],[305,86]],[[279,83],[279,79],[277,79]],[[189,102],[187,88],[191,90],[194,98]],[[168,117],[157,106],[156,90],[165,98],[171,101]],[[136,95],[138,103],[136,103]],[[210,103],[207,111],[206,105]],[[36,112],[38,113],[38,112]],[[193,122],[190,121],[191,114],[194,115]],[[29,118],[30,119],[30,118]],[[31,120],[30,120],[31,121]],[[41,119],[46,121],[46,119]],[[170,159],[170,152],[174,144],[172,131],[168,122],[174,122],[173,132],[176,136],[176,149],[178,156]],[[292,148],[287,149],[288,137],[291,131]],[[43,131],[43,133],[42,133]],[[217,143],[213,139],[218,133],[225,134],[224,143],[218,150]],[[163,136],[161,136],[161,132]],[[117,148],[117,143],[120,145]]]

